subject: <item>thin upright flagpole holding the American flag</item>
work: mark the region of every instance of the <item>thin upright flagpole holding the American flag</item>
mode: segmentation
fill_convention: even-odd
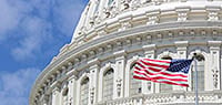
[[[193,54],[194,66],[195,66],[195,105],[199,105],[199,97],[198,97],[198,55],[196,53]]]

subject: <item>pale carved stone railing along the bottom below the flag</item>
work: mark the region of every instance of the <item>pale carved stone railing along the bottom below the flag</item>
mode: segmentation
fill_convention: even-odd
[[[222,104],[221,91],[200,92],[199,103]],[[97,105],[162,105],[162,104],[194,104],[195,94],[193,92],[183,93],[159,93],[149,95],[138,95],[113,99],[110,102],[98,103]]]

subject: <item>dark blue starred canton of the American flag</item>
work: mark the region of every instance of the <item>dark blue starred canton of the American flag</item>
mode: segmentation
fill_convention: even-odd
[[[170,67],[167,71],[188,73],[193,60],[171,60]]]

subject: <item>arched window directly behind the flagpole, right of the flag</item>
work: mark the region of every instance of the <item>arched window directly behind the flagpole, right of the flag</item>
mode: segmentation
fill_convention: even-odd
[[[196,54],[198,62],[196,62],[196,69],[198,69],[198,90],[204,91],[204,56],[202,54]],[[195,91],[195,66],[192,65],[192,91]]]

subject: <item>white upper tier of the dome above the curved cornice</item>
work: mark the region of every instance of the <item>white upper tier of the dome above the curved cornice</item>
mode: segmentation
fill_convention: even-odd
[[[138,25],[218,20],[220,9],[220,0],[90,0],[72,42],[87,42]]]

